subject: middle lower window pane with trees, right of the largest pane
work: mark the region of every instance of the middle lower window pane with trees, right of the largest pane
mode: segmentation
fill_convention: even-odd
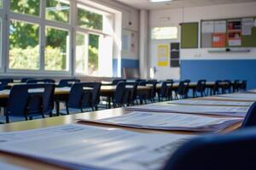
[[[44,67],[47,71],[68,71],[68,31],[46,27]]]

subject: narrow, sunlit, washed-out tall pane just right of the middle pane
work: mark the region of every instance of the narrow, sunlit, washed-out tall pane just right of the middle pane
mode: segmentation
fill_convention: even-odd
[[[86,61],[88,59],[88,36],[87,34],[77,33],[76,40],[76,72],[85,74],[87,72]]]

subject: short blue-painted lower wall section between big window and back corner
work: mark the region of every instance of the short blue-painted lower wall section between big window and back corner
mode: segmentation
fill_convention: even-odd
[[[139,68],[138,59],[121,59],[121,71],[123,68]],[[113,77],[118,75],[118,59],[113,59]]]

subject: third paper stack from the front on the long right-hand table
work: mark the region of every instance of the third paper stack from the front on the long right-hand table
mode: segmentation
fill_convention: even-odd
[[[231,106],[207,106],[207,105],[170,105],[167,103],[152,105],[137,105],[125,108],[130,111],[154,111],[154,112],[177,112],[177,113],[194,113],[204,115],[218,116],[241,116],[247,114],[249,107],[231,107]]]

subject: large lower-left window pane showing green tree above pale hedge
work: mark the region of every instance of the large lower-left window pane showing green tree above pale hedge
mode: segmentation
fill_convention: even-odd
[[[9,26],[9,68],[39,69],[39,26],[11,20]]]

